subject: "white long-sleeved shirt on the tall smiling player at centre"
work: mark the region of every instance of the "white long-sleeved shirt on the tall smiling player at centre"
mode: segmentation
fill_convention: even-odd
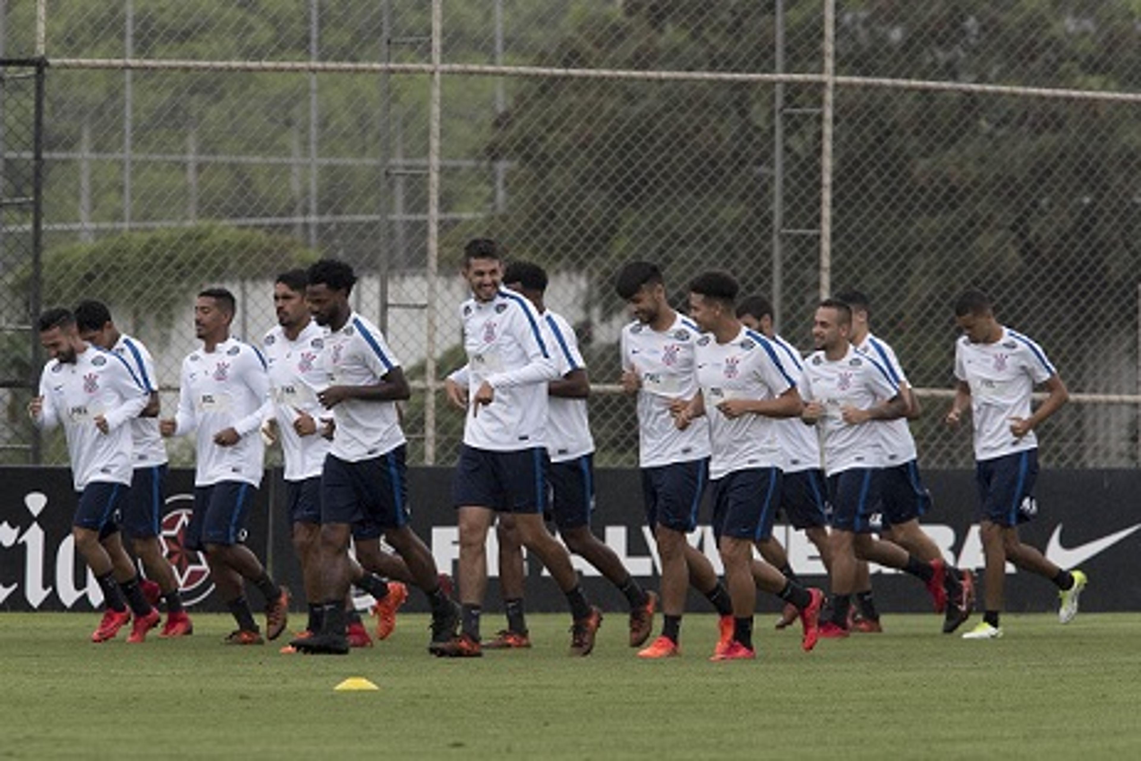
[[[495,389],[491,404],[469,405],[463,443],[493,452],[545,447],[547,383],[559,378],[559,371],[535,307],[500,289],[491,301],[464,301],[460,319],[468,364],[452,380],[467,381],[469,399],[484,381]]]

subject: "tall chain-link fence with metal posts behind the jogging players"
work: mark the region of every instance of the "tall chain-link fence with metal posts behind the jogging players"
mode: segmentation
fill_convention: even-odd
[[[38,24],[43,7],[0,0],[0,55],[51,64],[44,301],[107,300],[167,410],[200,286],[229,285],[256,341],[274,274],[335,256],[418,381],[413,461],[450,462],[458,252],[491,234],[552,273],[604,384],[602,464],[636,461],[632,405],[605,386],[632,258],[678,306],[702,269],[735,273],[806,350],[823,290],[867,292],[923,390],[932,467],[970,461],[938,392],[950,302],[981,286],[1079,392],[1044,460],[1139,461],[1134,2],[55,0]],[[2,123],[7,167],[26,149]],[[19,229],[3,218],[14,324]]]

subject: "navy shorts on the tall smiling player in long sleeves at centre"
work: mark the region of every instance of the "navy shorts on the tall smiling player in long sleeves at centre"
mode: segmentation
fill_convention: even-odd
[[[547,509],[547,450],[477,450],[464,444],[455,463],[452,504],[500,512],[541,513]]]

